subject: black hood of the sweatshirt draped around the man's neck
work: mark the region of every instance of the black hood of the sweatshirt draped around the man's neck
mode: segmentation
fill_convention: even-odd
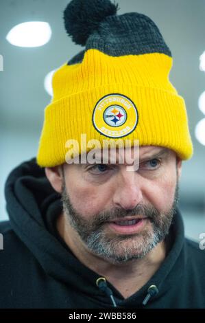
[[[47,225],[48,210],[60,214],[62,202],[45,176],[45,168],[36,164],[36,158],[23,162],[14,168],[5,183],[6,208],[12,230],[34,255],[45,273],[54,280],[69,285],[79,295],[93,299],[102,307],[157,307],[165,293],[182,278],[186,266],[184,250],[184,227],[179,210],[171,225],[171,248],[164,262],[154,276],[136,293],[124,299],[114,286],[106,281],[106,286],[97,287],[101,277],[75,257],[69,247],[65,247]],[[157,292],[147,292],[150,286]],[[150,291],[150,289],[149,289]],[[109,295],[112,294],[110,297]],[[114,298],[114,302],[112,301]],[[143,304],[144,301],[144,304]]]

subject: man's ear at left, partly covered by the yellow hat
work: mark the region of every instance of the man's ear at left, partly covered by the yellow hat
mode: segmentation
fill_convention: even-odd
[[[45,167],[45,175],[56,192],[62,192],[62,166]]]

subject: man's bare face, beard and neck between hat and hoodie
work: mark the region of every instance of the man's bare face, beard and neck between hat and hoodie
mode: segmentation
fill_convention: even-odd
[[[176,165],[176,154],[159,148],[140,148],[137,172],[128,172],[125,164],[45,170],[53,188],[62,192],[60,235],[86,267],[105,276],[124,298],[145,285],[169,250],[164,239],[178,198],[181,161]],[[125,225],[128,220],[136,224]]]

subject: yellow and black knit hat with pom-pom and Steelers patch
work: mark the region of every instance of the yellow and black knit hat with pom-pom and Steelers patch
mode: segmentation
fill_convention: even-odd
[[[65,27],[85,49],[53,76],[37,163],[65,162],[67,140],[139,140],[193,154],[184,99],[169,81],[172,57],[158,27],[144,14],[117,15],[109,0],[73,0]],[[86,151],[80,146],[80,153]]]

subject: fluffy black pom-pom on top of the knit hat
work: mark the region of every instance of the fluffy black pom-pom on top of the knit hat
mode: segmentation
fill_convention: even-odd
[[[110,0],[72,0],[64,10],[64,27],[74,43],[84,46],[99,23],[118,9]]]

